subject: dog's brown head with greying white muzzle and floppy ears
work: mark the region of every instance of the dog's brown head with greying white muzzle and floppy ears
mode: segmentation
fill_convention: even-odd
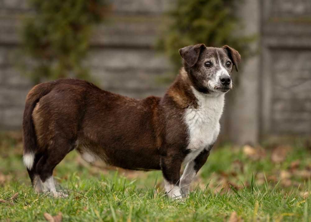
[[[232,89],[233,66],[238,71],[241,56],[235,49],[190,45],[179,49],[183,65],[196,90],[202,93],[228,92]]]

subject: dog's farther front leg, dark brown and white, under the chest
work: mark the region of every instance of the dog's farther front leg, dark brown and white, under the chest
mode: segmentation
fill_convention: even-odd
[[[210,152],[208,150],[203,150],[194,160],[188,162],[186,165],[179,183],[180,191],[183,196],[188,195],[191,182],[195,178],[199,169],[205,164],[209,155]]]

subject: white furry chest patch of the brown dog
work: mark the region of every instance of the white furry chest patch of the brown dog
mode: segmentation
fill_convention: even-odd
[[[224,94],[210,96],[203,95],[195,89],[193,91],[198,100],[198,108],[188,108],[184,118],[188,127],[188,149],[196,156],[217,139],[220,131],[219,120],[224,107]]]

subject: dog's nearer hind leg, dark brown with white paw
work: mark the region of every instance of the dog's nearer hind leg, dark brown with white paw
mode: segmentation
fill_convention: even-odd
[[[57,141],[53,141],[49,148],[44,151],[42,157],[36,165],[36,171],[39,174],[42,185],[42,192],[50,192],[53,197],[68,196],[63,192],[56,191],[53,179],[53,170],[72,149],[73,146],[67,142],[66,139],[58,138]]]

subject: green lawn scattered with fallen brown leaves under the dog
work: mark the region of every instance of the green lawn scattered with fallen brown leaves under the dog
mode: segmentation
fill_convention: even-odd
[[[90,166],[72,151],[54,172],[69,197],[54,199],[33,192],[20,133],[2,133],[0,220],[45,221],[44,213],[61,212],[63,221],[311,221],[310,143],[264,148],[213,149],[182,201],[165,197],[160,171]]]

